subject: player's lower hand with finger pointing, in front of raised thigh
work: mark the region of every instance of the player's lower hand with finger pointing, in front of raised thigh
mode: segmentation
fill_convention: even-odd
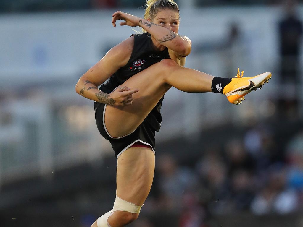
[[[138,89],[131,90],[129,87],[118,87],[112,93],[109,94],[108,98],[115,100],[114,106],[128,106],[132,104],[132,94],[138,92]]]

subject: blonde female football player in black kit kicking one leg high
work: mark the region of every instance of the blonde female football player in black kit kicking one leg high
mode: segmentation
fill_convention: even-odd
[[[183,67],[191,41],[178,35],[178,5],[173,0],[148,0],[146,6],[144,18],[121,11],[112,15],[114,27],[122,20],[120,25],[139,26],[145,32],[109,50],[76,85],[78,94],[95,101],[98,130],[117,157],[113,209],[92,227],[122,227],[138,218],[154,177],[161,102],[171,87],[221,93],[232,104],[241,104],[246,94],[271,78],[269,72],[242,77],[239,70],[237,78],[220,78]]]

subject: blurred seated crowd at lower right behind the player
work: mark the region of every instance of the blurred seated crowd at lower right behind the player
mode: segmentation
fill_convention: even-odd
[[[178,164],[173,152],[158,154],[145,209],[178,213],[180,227],[209,226],[214,215],[238,212],[302,212],[303,130],[286,144],[276,143],[278,136],[274,127],[258,124],[224,146],[205,144],[191,166]]]

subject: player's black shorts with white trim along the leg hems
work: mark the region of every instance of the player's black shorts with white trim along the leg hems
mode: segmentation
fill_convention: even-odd
[[[112,144],[112,148],[115,151],[115,156],[118,159],[119,155],[122,154],[126,149],[132,146],[136,142],[151,146],[151,149],[155,153],[155,130],[151,127],[148,121],[145,119],[135,131],[124,136],[113,138],[109,135],[104,124],[104,113],[106,104],[99,102],[94,103],[95,107],[95,118],[98,130],[100,134]]]

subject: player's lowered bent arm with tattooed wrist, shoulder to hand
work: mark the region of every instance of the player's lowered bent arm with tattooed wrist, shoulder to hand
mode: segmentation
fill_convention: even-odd
[[[107,54],[91,67],[76,84],[76,92],[85,98],[108,105],[125,106],[132,104],[132,94],[138,90],[121,87],[111,94],[98,89],[119,68],[125,66],[132,54],[134,37],[110,49]]]

